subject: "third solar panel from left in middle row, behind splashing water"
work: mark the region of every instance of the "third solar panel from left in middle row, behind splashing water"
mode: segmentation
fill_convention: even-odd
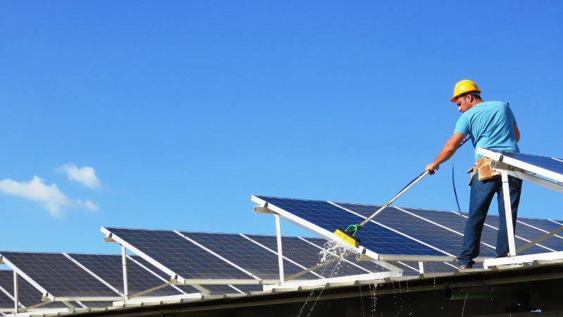
[[[277,239],[275,236],[271,235],[246,235],[255,242],[262,244],[263,246],[277,251]],[[326,240],[324,240],[326,242]],[[283,249],[283,254],[286,258],[295,261],[296,263],[305,266],[305,268],[312,268],[321,263],[322,254],[320,254],[321,249],[315,247],[308,242],[305,242],[298,237],[282,237],[281,246]],[[335,256],[327,256],[325,261],[334,259]],[[355,261],[355,256],[349,256],[348,260]],[[379,268],[379,271],[384,271]],[[315,273],[321,275],[323,278],[330,278],[343,275],[359,275],[372,273],[372,271],[367,271],[357,266],[353,266],[348,261],[336,261],[330,263],[322,268],[317,268]],[[285,273],[286,278],[291,275],[290,273]]]

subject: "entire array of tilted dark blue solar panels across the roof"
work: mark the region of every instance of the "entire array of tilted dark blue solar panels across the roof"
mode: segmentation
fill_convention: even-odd
[[[502,155],[517,160],[518,163],[529,164],[533,169],[540,170],[546,178],[550,177],[558,180],[559,185],[563,184],[562,159],[529,154]],[[253,200],[277,207],[284,211],[282,216],[291,216],[293,221],[313,232],[318,231],[320,235],[360,223],[380,207],[265,196]],[[361,240],[362,247],[378,254],[456,256],[461,249],[465,218],[465,213],[460,215],[449,211],[389,207],[362,228],[357,237]],[[481,235],[481,256],[495,256],[499,225],[498,216],[487,216]],[[559,220],[519,217],[515,236],[517,247],[561,226],[563,221]],[[279,278],[278,245],[277,237],[274,236],[127,228],[103,230],[110,233],[115,241],[137,253],[135,256],[127,256],[129,295],[165,285],[172,278],[202,280],[203,285],[166,285],[143,296],[166,297],[203,290],[208,290],[211,294],[252,292],[262,290],[262,286],[242,285],[238,281],[251,280],[258,283]],[[388,271],[377,263],[358,261],[355,256],[341,259],[334,252],[325,250],[326,240],[281,237],[281,242],[284,275],[289,280]],[[548,251],[563,251],[563,233],[552,235],[520,254]],[[120,255],[13,251],[2,251],[0,255],[13,270],[25,273],[19,280],[19,299],[23,306],[38,304],[44,295],[33,285],[40,285],[39,288],[44,288],[55,298],[68,297],[75,301],[79,300],[77,298],[84,298],[84,303],[66,303],[76,307],[110,306],[111,302],[96,299],[120,299],[125,293]],[[328,259],[339,261],[327,261]],[[402,268],[405,275],[419,273],[418,262],[393,261],[391,264]],[[447,272],[454,268],[453,263],[439,261],[424,264],[426,272]],[[205,284],[205,281],[221,283],[225,280],[234,282],[234,285]],[[13,271],[0,271],[0,311],[13,309],[12,295]],[[44,307],[63,308],[65,305],[53,302]]]

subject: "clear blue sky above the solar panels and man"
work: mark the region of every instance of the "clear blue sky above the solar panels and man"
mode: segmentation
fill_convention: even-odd
[[[37,176],[34,188],[56,199],[0,193],[0,249],[118,251],[102,225],[273,233],[251,194],[383,204],[453,132],[448,99],[464,78],[510,101],[523,152],[563,157],[562,9],[6,2],[0,180]],[[463,209],[472,151],[456,159]],[[450,168],[398,205],[455,209]],[[560,194],[524,185],[521,216],[561,219],[562,207]]]

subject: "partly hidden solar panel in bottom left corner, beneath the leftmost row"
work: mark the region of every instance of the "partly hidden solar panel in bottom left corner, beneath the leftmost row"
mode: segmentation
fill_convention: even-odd
[[[23,306],[32,306],[41,303],[42,294],[33,287],[30,283],[24,280],[21,276],[18,278],[18,290],[19,290],[19,302]],[[0,287],[13,296],[13,271],[0,270]],[[4,296],[2,296],[4,295]],[[4,298],[5,297],[5,298]],[[6,298],[8,299],[8,306],[6,306]],[[4,294],[0,290],[0,307],[12,309],[14,306],[13,300],[8,295]],[[63,308],[65,307],[62,303],[50,303],[45,308]]]

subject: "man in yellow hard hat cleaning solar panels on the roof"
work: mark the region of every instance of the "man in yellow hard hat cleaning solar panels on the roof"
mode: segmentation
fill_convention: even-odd
[[[471,80],[462,80],[455,84],[450,101],[457,104],[462,115],[455,124],[455,130],[445,143],[440,154],[426,170],[432,175],[440,164],[448,161],[455,153],[466,135],[472,139],[474,147],[496,151],[519,152],[517,142],[520,132],[510,106],[500,101],[483,101],[481,89]],[[490,167],[491,161],[475,154],[476,165],[472,171],[471,197],[469,199],[469,218],[465,223],[463,247],[458,259],[459,268],[472,268],[473,259],[479,255],[479,243],[483,223],[487,216],[491,200],[497,194],[498,200],[498,235],[496,253],[498,257],[508,254],[508,237],[505,218],[505,202],[502,196],[500,174]],[[522,180],[509,176],[510,203],[512,207],[513,227],[516,225],[518,204]]]

